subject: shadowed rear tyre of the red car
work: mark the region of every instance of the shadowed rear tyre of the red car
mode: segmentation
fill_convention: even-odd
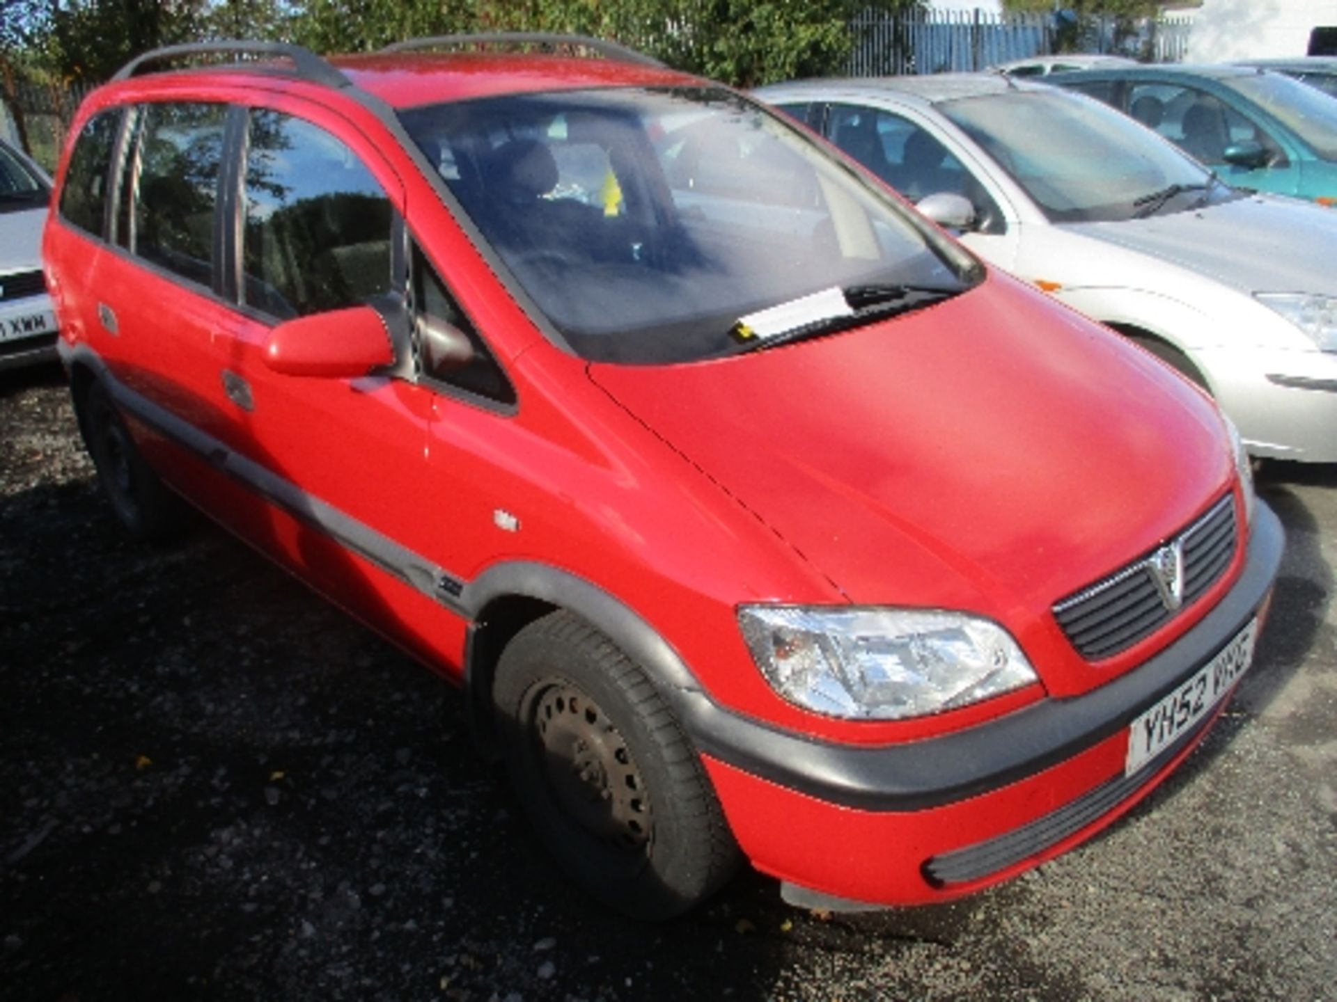
[[[144,462],[130,429],[100,383],[92,383],[80,407],[84,441],[111,508],[138,540],[164,540],[185,520],[185,504]]]

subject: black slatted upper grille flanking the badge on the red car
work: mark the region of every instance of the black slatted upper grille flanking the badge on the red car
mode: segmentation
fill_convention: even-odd
[[[1111,657],[1150,636],[1206,592],[1235,554],[1235,498],[1226,494],[1170,540],[1183,560],[1182,605],[1169,608],[1158,587],[1154,553],[1054,607],[1054,617],[1088,661]],[[1158,548],[1159,549],[1159,548]]]

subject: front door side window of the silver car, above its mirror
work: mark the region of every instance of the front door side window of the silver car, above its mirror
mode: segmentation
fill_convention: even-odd
[[[1003,212],[975,175],[928,130],[888,111],[832,106],[830,138],[910,202],[947,192],[975,206],[983,232],[1004,232]]]

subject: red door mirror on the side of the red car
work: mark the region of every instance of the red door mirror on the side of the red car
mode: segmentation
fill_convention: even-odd
[[[265,342],[265,365],[285,375],[356,379],[392,362],[390,334],[370,306],[285,321]]]

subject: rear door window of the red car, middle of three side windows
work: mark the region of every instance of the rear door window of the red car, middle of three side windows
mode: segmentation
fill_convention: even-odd
[[[226,104],[147,104],[140,111],[138,171],[128,250],[146,261],[211,285],[214,210],[223,162]]]

